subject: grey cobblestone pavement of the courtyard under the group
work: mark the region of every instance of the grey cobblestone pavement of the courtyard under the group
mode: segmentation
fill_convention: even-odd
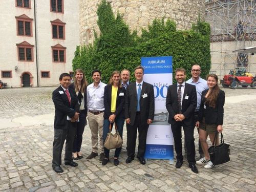
[[[53,115],[51,92],[54,89],[0,90],[0,122],[23,116]],[[213,169],[198,166],[199,174],[192,173],[187,162],[180,169],[167,160],[148,160],[146,165],[135,160],[125,164],[124,137],[118,166],[113,165],[112,150],[111,163],[105,166],[99,163],[99,157],[90,161],[81,159],[76,161],[78,167],[62,165],[64,173],[56,174],[51,167],[52,124],[10,125],[0,129],[0,190],[255,191],[256,89],[223,90],[226,93],[224,139],[231,144],[231,161],[226,164]],[[195,139],[198,140],[196,131]],[[90,143],[91,132],[86,126],[84,156],[91,153]]]

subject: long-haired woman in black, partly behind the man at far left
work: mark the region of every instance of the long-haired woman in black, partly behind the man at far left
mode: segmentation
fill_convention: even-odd
[[[81,69],[77,69],[74,72],[74,82],[70,85],[70,88],[75,90],[78,102],[79,102],[79,122],[77,122],[76,136],[73,143],[73,159],[82,159],[81,145],[82,145],[82,134],[84,127],[86,126],[87,116],[87,89],[88,83],[86,76]]]

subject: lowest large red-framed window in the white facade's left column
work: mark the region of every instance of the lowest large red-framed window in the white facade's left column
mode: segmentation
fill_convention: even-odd
[[[17,45],[18,61],[34,61],[33,56],[33,45],[29,44],[27,41],[23,41]]]

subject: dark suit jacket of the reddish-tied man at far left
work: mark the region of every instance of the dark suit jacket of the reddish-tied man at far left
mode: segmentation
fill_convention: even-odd
[[[61,91],[63,92],[62,94],[59,93]],[[75,112],[79,112],[76,92],[73,89],[69,89],[69,93],[71,104],[69,104],[68,97],[61,86],[52,92],[52,100],[55,106],[54,129],[67,129],[67,115],[74,117]]]

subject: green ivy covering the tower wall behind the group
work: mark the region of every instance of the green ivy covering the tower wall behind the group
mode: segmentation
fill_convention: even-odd
[[[93,44],[77,46],[73,59],[73,70],[83,69],[89,82],[94,69],[102,72],[106,83],[114,70],[122,69],[129,69],[134,80],[134,68],[140,65],[140,58],[151,56],[173,56],[173,69],[185,68],[187,79],[194,63],[201,66],[202,77],[209,73],[210,27],[200,19],[190,30],[176,30],[172,20],[164,23],[163,19],[155,19],[139,37],[136,31],[129,31],[120,14],[114,16],[105,0],[99,4],[97,15],[100,34],[95,34]]]

